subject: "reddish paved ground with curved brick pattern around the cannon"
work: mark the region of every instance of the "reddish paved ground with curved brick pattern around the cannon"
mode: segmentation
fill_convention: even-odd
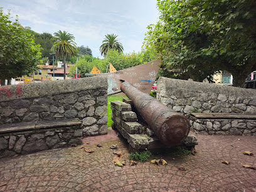
[[[0,191],[256,191],[256,170],[241,165],[256,166],[256,137],[198,139],[196,156],[166,155],[166,166],[114,166],[113,151],[123,152],[128,160],[127,144],[114,131],[86,137],[85,146],[95,150],[91,154],[71,147],[0,159]],[[118,149],[110,149],[112,144],[118,144]],[[255,155],[246,156],[243,151]]]

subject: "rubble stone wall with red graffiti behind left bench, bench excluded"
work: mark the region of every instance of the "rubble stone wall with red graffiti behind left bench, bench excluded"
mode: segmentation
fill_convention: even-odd
[[[0,87],[0,124],[78,118],[83,135],[107,134],[107,78]]]

